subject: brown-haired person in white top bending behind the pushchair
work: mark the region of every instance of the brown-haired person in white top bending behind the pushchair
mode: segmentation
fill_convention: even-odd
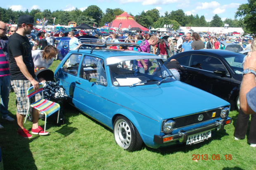
[[[35,67],[40,69],[47,69],[52,65],[54,58],[57,57],[58,51],[54,46],[46,46],[45,50],[32,51],[32,57]]]

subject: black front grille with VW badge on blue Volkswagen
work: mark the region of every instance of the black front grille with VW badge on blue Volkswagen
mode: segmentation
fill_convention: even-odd
[[[179,129],[181,127],[190,126],[192,124],[198,124],[198,123],[209,121],[211,119],[219,118],[222,109],[223,108],[216,108],[213,110],[207,110],[200,113],[194,113],[192,115],[173,118],[173,120],[175,121],[174,129]],[[213,117],[214,113],[215,113],[215,116]],[[198,120],[199,115],[204,116],[201,121]]]

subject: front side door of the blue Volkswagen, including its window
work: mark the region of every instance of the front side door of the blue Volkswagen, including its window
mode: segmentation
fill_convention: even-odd
[[[97,82],[90,82],[90,78],[97,78]],[[111,118],[106,116],[108,86],[104,60],[85,55],[75,83],[76,107],[104,124],[111,122]]]

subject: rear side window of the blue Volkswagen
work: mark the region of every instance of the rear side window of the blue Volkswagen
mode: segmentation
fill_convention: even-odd
[[[63,65],[64,71],[76,76],[81,57],[81,54],[71,54]]]

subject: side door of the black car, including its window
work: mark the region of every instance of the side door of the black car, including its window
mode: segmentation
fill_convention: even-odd
[[[186,72],[186,76],[181,78],[181,81],[228,100],[231,91],[230,74],[217,57],[191,55]]]

